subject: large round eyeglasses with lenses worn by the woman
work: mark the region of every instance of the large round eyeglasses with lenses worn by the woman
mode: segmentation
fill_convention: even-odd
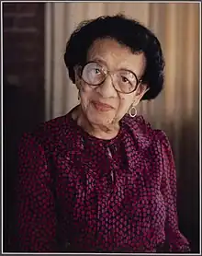
[[[81,69],[80,75],[85,83],[95,87],[100,86],[109,75],[111,76],[113,87],[118,92],[125,94],[135,91],[142,81],[132,71],[123,69],[110,72],[104,66],[95,62],[85,64]]]

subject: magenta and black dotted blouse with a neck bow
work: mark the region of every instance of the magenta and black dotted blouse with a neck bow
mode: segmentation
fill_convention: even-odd
[[[27,252],[186,252],[165,134],[126,115],[112,140],[65,116],[19,146],[18,230]]]

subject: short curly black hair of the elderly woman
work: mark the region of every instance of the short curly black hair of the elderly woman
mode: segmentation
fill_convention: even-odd
[[[126,45],[131,52],[144,52],[147,64],[142,82],[146,82],[150,89],[142,99],[156,98],[163,89],[164,81],[164,58],[160,41],[139,21],[122,14],[85,20],[73,31],[64,53],[64,62],[73,83],[73,67],[86,63],[87,52],[95,40],[108,37]]]

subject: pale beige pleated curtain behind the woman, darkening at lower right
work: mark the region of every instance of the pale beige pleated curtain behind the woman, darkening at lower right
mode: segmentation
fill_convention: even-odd
[[[70,111],[77,89],[63,63],[65,43],[77,24],[101,15],[126,14],[152,29],[165,55],[165,87],[157,99],[142,102],[139,113],[163,129],[174,151],[180,227],[199,250],[199,4],[46,4],[46,119]],[[82,42],[81,42],[82,47]]]

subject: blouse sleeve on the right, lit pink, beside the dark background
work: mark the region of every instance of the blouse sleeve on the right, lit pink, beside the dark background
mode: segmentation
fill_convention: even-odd
[[[174,157],[167,136],[162,133],[161,137],[161,151],[163,157],[161,192],[166,208],[165,248],[170,252],[188,252],[190,250],[189,243],[178,228]]]

